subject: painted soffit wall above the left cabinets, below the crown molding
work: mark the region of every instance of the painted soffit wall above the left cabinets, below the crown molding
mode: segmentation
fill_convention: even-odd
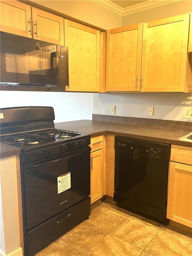
[[[38,3],[106,30],[122,26],[122,17],[120,15],[88,0],[32,0],[31,2]]]

